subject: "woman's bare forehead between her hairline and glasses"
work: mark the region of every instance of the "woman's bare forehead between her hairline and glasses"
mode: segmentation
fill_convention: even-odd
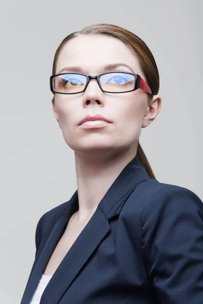
[[[81,35],[63,46],[56,73],[66,66],[79,66],[84,73],[97,74],[102,72],[103,66],[114,63],[127,64],[144,76],[136,55],[120,40],[106,35]],[[126,67],[122,70],[129,71]]]

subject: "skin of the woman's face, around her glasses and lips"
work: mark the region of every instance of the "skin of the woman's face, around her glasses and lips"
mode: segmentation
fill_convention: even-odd
[[[119,67],[104,70],[108,64]],[[62,48],[56,74],[65,67],[79,67],[81,73],[97,75],[107,71],[123,71],[145,76],[136,56],[121,41],[103,35],[81,35]],[[61,69],[64,69],[61,71]],[[69,70],[68,72],[72,72]],[[135,150],[141,129],[150,123],[147,94],[138,89],[127,93],[105,93],[96,80],[85,92],[73,95],[55,93],[54,115],[67,145],[79,153],[110,152],[132,147]],[[79,122],[87,115],[101,115],[111,123],[100,128],[83,129]],[[156,115],[155,115],[156,116]]]

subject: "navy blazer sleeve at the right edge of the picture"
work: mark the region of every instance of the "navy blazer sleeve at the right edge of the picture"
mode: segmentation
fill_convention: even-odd
[[[203,203],[189,189],[166,186],[145,206],[143,254],[159,304],[203,303]]]

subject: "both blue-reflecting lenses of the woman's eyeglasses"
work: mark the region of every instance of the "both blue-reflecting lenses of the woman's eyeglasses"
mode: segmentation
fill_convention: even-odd
[[[135,77],[132,74],[112,72],[99,77],[101,88],[107,92],[127,92],[134,88]],[[54,90],[59,93],[79,93],[84,90],[87,77],[82,74],[61,74],[53,79]]]

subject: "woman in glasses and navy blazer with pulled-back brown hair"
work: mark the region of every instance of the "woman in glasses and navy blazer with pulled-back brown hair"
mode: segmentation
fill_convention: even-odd
[[[161,109],[146,44],[87,26],[61,42],[50,87],[77,191],[38,222],[21,304],[202,304],[202,202],[157,181],[139,143]]]

